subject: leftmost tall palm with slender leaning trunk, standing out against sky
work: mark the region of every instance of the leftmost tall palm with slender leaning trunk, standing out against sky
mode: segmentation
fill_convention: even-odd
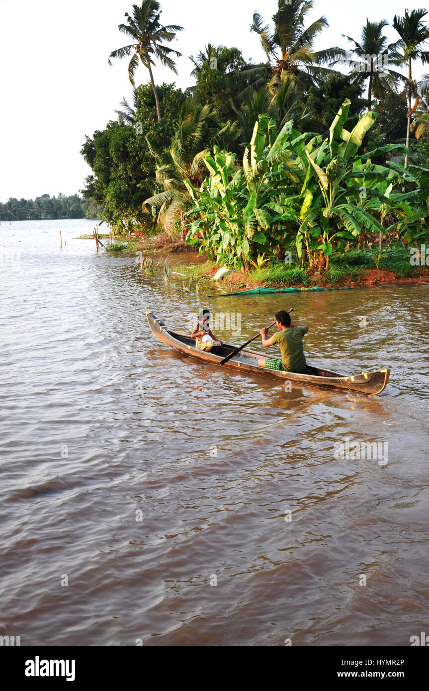
[[[130,82],[134,84],[134,74],[139,61],[142,61],[144,66],[149,70],[151,77],[151,85],[153,94],[155,95],[156,112],[158,113],[158,120],[161,120],[160,100],[156,90],[155,82],[153,80],[152,65],[155,65],[155,60],[158,58],[162,65],[170,68],[177,75],[178,70],[175,66],[175,61],[171,57],[172,54],[180,57],[182,53],[177,50],[162,45],[163,43],[170,43],[175,38],[177,31],[182,31],[182,26],[171,24],[169,26],[162,26],[160,23],[161,7],[158,0],[143,0],[142,6],[133,5],[133,15],[125,13],[128,23],[120,24],[119,30],[129,36],[133,43],[123,48],[113,50],[110,57],[129,57],[132,55],[128,64],[128,76]],[[111,65],[109,58],[108,64]]]

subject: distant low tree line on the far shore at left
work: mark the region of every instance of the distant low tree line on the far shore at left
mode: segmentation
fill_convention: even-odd
[[[50,197],[42,194],[32,199],[10,197],[0,203],[0,220],[40,220],[42,218],[101,218],[103,207],[94,199],[83,199],[78,194],[67,197],[59,193]]]

